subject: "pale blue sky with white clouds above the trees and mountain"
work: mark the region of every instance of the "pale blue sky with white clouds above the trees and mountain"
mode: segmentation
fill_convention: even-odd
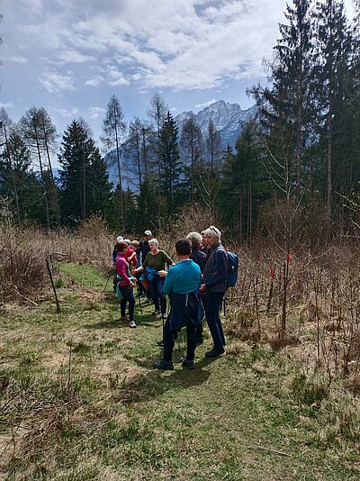
[[[0,0],[0,106],[45,107],[62,133],[82,116],[97,140],[117,95],[126,120],[159,93],[174,114],[253,104],[285,0]],[[351,0],[346,0],[350,14]]]

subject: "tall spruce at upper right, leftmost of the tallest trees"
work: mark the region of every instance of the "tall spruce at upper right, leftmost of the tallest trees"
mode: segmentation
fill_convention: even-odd
[[[275,59],[269,62],[269,87],[254,87],[264,127],[268,170],[279,194],[300,198],[308,171],[306,150],[311,145],[311,15],[310,0],[293,0],[281,23]],[[286,192],[286,188],[291,192]]]

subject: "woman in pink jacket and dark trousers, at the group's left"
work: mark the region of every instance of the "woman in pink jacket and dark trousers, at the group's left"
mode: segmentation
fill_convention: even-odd
[[[126,242],[119,242],[116,245],[118,254],[116,256],[116,273],[119,277],[119,289],[121,291],[121,321],[129,321],[129,327],[136,327],[134,321],[135,297],[132,292],[132,287],[135,284],[130,279],[129,264],[126,262],[125,256],[128,250]],[[125,317],[126,302],[129,302],[129,318]]]

